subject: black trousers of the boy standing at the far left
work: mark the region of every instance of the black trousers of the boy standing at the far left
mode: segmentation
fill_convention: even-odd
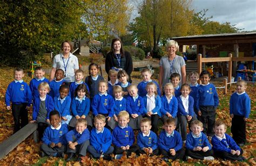
[[[26,110],[26,103],[12,104],[11,112],[14,117],[14,133],[29,123],[28,110]]]

